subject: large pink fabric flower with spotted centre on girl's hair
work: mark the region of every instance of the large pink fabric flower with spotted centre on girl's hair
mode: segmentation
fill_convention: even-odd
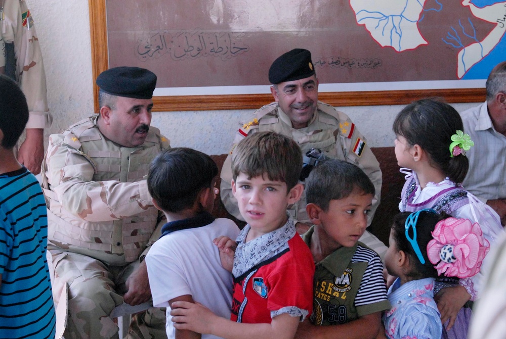
[[[469,219],[447,218],[436,224],[427,256],[438,274],[467,278],[480,271],[490,249],[478,223]]]

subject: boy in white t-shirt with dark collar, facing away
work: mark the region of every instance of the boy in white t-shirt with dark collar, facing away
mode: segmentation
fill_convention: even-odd
[[[209,213],[218,194],[217,175],[218,167],[209,156],[187,148],[162,152],[149,169],[148,189],[167,223],[146,264],[153,305],[167,307],[169,339],[215,338],[174,328],[170,312],[175,301],[198,302],[230,317],[232,275],[222,267],[213,239],[221,235],[235,239],[239,228],[232,220],[215,219]]]

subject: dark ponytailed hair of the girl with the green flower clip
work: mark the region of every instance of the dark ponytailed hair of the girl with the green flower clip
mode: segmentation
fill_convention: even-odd
[[[434,166],[451,181],[461,183],[469,170],[468,158],[461,154],[450,157],[451,136],[464,131],[462,119],[453,107],[439,99],[424,99],[407,105],[397,114],[393,127],[396,135],[417,144],[430,155]]]

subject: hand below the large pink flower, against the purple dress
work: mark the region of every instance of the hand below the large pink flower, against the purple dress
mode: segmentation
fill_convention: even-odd
[[[434,296],[439,313],[441,313],[441,323],[444,325],[446,320],[450,320],[446,329],[449,330],[453,327],[458,311],[469,299],[471,299],[471,296],[466,288],[460,285],[442,288]]]

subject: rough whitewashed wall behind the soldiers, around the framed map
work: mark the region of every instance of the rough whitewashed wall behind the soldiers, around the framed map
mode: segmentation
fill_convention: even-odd
[[[56,133],[93,113],[92,64],[88,0],[26,0],[42,46],[49,108]],[[477,104],[456,104],[457,111]],[[371,147],[393,146],[392,122],[402,106],[342,107]],[[239,122],[252,110],[155,112],[152,125],[173,147],[207,154],[227,153]]]

